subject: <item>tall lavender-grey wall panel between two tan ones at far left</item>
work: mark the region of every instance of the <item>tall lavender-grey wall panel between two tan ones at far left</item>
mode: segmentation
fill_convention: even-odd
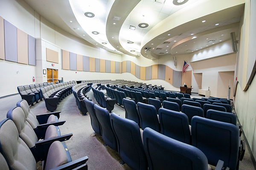
[[[17,62],[17,28],[4,20],[5,59]]]

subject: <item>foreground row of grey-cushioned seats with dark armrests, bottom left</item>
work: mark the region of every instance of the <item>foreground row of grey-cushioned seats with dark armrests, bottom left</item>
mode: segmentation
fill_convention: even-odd
[[[73,135],[62,135],[58,128],[65,121],[58,121],[59,113],[46,113],[35,116],[26,100],[7,113],[7,119],[0,122],[1,169],[37,169],[37,162],[43,161],[43,170],[87,169],[85,156],[72,161],[63,141]],[[41,140],[43,139],[43,140]]]

